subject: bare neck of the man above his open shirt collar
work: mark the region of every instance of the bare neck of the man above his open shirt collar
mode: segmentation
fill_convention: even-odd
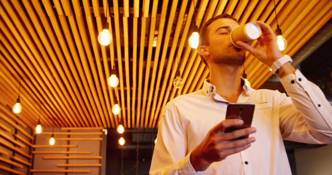
[[[229,102],[236,102],[242,92],[240,66],[217,64],[210,67],[210,84]]]

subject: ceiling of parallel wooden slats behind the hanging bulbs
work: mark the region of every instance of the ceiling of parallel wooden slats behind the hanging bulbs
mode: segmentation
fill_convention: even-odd
[[[332,17],[330,0],[275,1],[288,40],[283,53],[290,56]],[[119,120],[126,128],[157,127],[166,103],[199,90],[209,74],[188,45],[192,21],[201,27],[228,13],[241,24],[260,20],[275,30],[273,9],[271,0],[1,0],[0,103],[15,104],[22,76],[17,116],[31,127],[41,103],[44,127],[52,127],[53,118],[58,127],[114,128]],[[98,43],[103,28],[113,35],[109,46]],[[181,89],[172,86],[177,58]],[[112,67],[120,80],[116,89],[107,85]],[[253,88],[272,75],[249,53],[245,68]],[[118,116],[112,113],[116,97]]]

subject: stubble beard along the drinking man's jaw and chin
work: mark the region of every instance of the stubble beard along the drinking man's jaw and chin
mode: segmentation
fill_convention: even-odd
[[[216,64],[241,66],[245,61],[246,53],[244,49],[240,48],[213,49],[210,50],[210,56]]]

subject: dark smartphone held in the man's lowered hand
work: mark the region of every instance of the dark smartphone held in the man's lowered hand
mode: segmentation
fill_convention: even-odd
[[[224,133],[251,127],[254,110],[254,103],[228,103],[225,119],[241,119],[243,120],[243,125],[226,128]],[[246,135],[233,140],[245,139],[248,137],[249,135]]]

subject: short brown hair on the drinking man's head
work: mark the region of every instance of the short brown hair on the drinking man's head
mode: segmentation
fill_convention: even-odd
[[[215,20],[221,19],[221,18],[229,18],[232,19],[234,21],[236,21],[237,23],[239,23],[235,18],[233,18],[232,16],[228,15],[228,14],[221,14],[218,16],[215,16],[211,19],[209,19],[201,28],[201,32],[200,32],[200,37],[199,37],[199,42],[198,42],[198,48],[203,46],[203,45],[209,45],[209,41],[208,41],[208,30],[207,27]],[[202,55],[200,55],[203,63],[208,67],[206,60],[204,59],[204,57]]]

